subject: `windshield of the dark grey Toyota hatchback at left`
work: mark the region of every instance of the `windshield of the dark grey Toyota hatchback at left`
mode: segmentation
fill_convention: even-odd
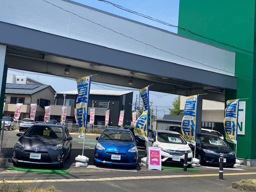
[[[34,125],[27,132],[25,136],[47,137],[47,138],[62,138],[62,127],[58,126],[40,126]]]

